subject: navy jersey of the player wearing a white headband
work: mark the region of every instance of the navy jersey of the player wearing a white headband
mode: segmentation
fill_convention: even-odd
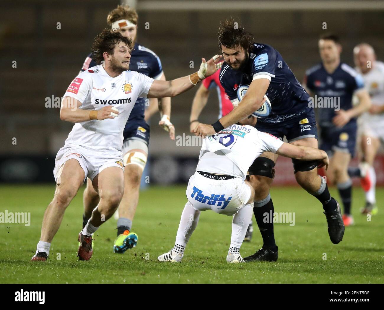
[[[84,61],[81,71],[85,71],[96,65],[96,62],[92,59],[92,54],[89,54]],[[160,78],[163,73],[159,56],[149,48],[139,45],[138,43],[135,43],[134,49],[131,52],[129,70],[137,71],[155,80]],[[146,98],[137,98],[128,121],[132,119],[144,119],[145,100]]]

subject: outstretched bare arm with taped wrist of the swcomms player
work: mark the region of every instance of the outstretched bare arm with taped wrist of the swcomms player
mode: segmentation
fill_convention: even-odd
[[[221,55],[213,56],[208,62],[202,58],[200,70],[191,75],[183,76],[172,81],[154,81],[148,92],[148,98],[174,97],[191,89],[201,80],[217,71],[217,63]]]

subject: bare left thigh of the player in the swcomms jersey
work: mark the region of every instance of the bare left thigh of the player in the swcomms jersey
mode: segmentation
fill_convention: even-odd
[[[72,199],[83,184],[85,173],[76,159],[68,159],[59,168],[55,196]]]

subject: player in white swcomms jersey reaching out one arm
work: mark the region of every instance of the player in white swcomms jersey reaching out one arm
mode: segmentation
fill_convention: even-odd
[[[58,151],[53,174],[56,191],[48,205],[36,254],[45,261],[66,207],[86,177],[91,179],[100,201],[79,233],[79,260],[93,254],[92,235],[116,211],[124,192],[122,163],[123,130],[138,97],[174,97],[195,86],[217,70],[216,55],[202,58],[200,70],[172,81],[153,80],[129,71],[132,40],[118,31],[104,29],[96,36],[92,53],[97,65],[80,73],[68,87],[61,103],[60,119],[75,123]]]

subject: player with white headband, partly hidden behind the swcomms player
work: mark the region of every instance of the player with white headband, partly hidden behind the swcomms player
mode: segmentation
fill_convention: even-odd
[[[134,43],[134,49],[131,52],[129,70],[137,71],[153,78],[154,80],[166,80],[162,70],[160,58],[148,48],[139,45],[137,38],[137,20],[138,15],[135,10],[129,6],[118,5],[117,8],[109,12],[107,23],[112,29],[118,29],[119,32],[131,38]],[[85,59],[81,71],[95,66],[92,54]],[[111,85],[111,87],[117,87]],[[127,124],[124,128],[123,142],[123,161],[124,161],[124,196],[118,209],[117,234],[114,242],[114,252],[124,253],[127,249],[136,246],[137,235],[130,233],[133,217],[136,213],[136,207],[139,201],[139,188],[142,172],[147,162],[148,143],[149,143],[149,125],[144,119],[145,106],[148,102],[152,106],[157,106],[157,100],[160,101],[162,118],[159,123],[172,140],[175,139],[175,129],[170,123],[170,98],[138,98]],[[155,109],[152,109],[156,111]],[[91,217],[92,210],[99,202],[99,195],[93,189],[91,181],[87,179],[87,187],[83,194],[84,214],[83,227]]]

